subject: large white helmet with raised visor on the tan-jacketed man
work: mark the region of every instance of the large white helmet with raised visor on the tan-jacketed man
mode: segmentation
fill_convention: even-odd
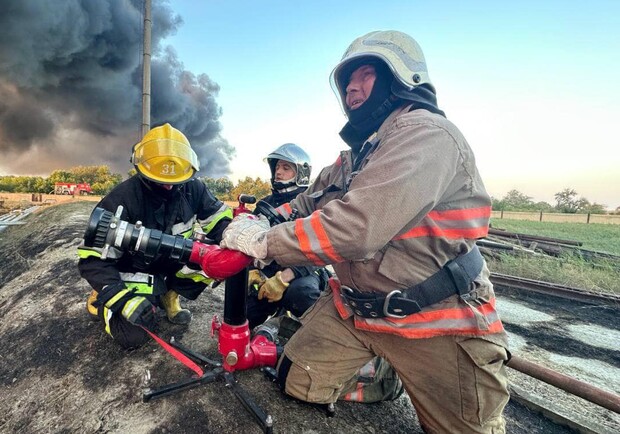
[[[332,89],[343,111],[346,111],[346,87],[351,73],[372,59],[384,62],[404,91],[425,83],[433,88],[424,53],[415,39],[395,30],[370,32],[349,45],[330,75]]]

